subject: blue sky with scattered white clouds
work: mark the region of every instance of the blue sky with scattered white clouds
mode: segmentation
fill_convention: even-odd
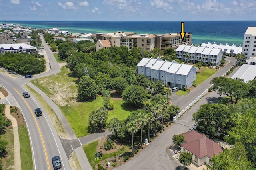
[[[256,20],[256,0],[0,0],[2,21]]]

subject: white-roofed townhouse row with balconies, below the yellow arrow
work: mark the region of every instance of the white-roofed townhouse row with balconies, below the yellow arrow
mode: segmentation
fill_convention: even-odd
[[[190,57],[186,57],[189,54]],[[180,45],[176,49],[176,59],[187,61],[188,63],[213,63],[213,66],[218,66],[222,59],[222,49],[200,47],[194,45]]]

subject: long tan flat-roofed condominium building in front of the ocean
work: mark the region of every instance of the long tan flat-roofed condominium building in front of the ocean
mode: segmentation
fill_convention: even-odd
[[[179,45],[191,45],[192,33],[186,33],[184,41],[182,41],[179,33],[155,35],[121,31],[115,33],[97,34],[96,38],[97,41],[110,40],[112,47],[120,47],[123,45],[128,47],[129,50],[132,49],[132,47],[140,47],[146,51],[151,51],[156,47],[164,50],[168,48],[176,49]]]

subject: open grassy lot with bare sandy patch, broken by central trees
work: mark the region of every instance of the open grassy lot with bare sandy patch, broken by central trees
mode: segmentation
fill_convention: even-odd
[[[86,130],[89,114],[104,105],[101,96],[98,96],[96,100],[77,102],[77,79],[66,66],[61,68],[59,74],[38,78],[31,82],[58,105],[76,137],[89,134]],[[114,102],[114,110],[109,111],[108,122],[113,117],[117,117],[122,121],[132,111],[132,108],[123,104],[122,100],[114,100]]]

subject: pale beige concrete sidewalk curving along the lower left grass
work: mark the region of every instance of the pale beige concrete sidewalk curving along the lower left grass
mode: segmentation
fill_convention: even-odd
[[[11,120],[13,129],[13,139],[14,139],[14,169],[21,170],[21,160],[20,160],[20,139],[19,131],[16,119],[10,113],[10,106],[5,107],[5,116]]]

